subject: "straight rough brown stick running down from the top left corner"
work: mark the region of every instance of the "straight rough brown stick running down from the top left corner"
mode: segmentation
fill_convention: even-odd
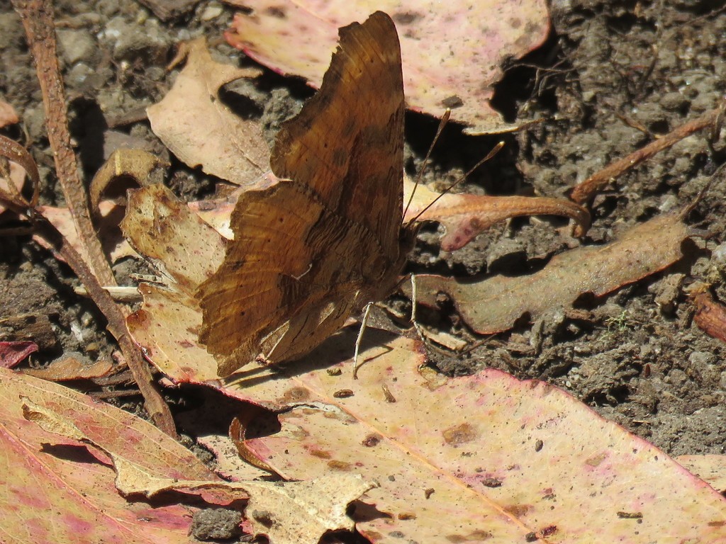
[[[68,110],[56,54],[52,4],[50,0],[12,0],[12,4],[23,20],[28,45],[36,62],[38,81],[43,91],[48,139],[65,203],[97,278],[103,285],[115,285],[113,272],[91,223],[88,197],[78,176],[76,154],[70,145]]]

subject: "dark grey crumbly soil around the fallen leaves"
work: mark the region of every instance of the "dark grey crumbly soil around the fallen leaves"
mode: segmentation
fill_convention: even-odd
[[[181,197],[196,199],[213,189],[215,180],[169,157],[144,119],[144,108],[166,93],[178,73],[167,73],[165,66],[179,41],[205,35],[219,59],[248,63],[220,38],[234,9],[216,1],[187,4],[186,12],[162,21],[134,0],[56,3],[71,130],[86,181],[113,149],[125,145],[168,158],[168,184]],[[553,0],[550,39],[526,59],[509,63],[494,100],[509,120],[544,122],[505,136],[505,150],[462,190],[561,197],[608,162],[717,107],[726,86],[723,4]],[[23,119],[3,133],[32,150],[44,180],[43,203],[62,205],[41,93],[20,19],[7,3],[0,7],[0,56],[0,96]],[[269,72],[258,87],[227,89],[229,103],[251,107],[271,134],[310,95],[300,81]],[[436,124],[408,115],[412,171]],[[498,140],[461,136],[449,126],[433,154],[430,177],[454,178]],[[717,142],[709,150],[706,135],[696,134],[627,173],[593,202],[593,225],[582,242],[608,242],[629,226],[693,202],[725,159],[722,147]],[[726,301],[724,191],[724,181],[717,180],[690,214],[690,225],[706,236],[685,244],[685,258],[672,268],[602,299],[582,297],[577,313],[556,308],[535,323],[522,320],[466,355],[432,351],[432,362],[449,374],[492,366],[520,378],[545,379],[672,455],[725,453],[726,347],[693,324],[687,295],[694,281],[706,281]],[[512,221],[452,253],[441,252],[436,226],[429,226],[420,234],[411,270],[531,273],[571,246],[558,230],[563,224],[552,218]],[[133,270],[129,260],[117,263],[119,283],[131,284]],[[84,360],[108,357],[113,344],[103,319],[73,294],[74,285],[69,269],[30,236],[3,236],[0,337],[36,331],[41,353],[33,355],[33,365],[68,353]],[[453,314],[424,313],[422,319],[473,338]],[[130,391],[121,404],[133,409],[139,397]]]

